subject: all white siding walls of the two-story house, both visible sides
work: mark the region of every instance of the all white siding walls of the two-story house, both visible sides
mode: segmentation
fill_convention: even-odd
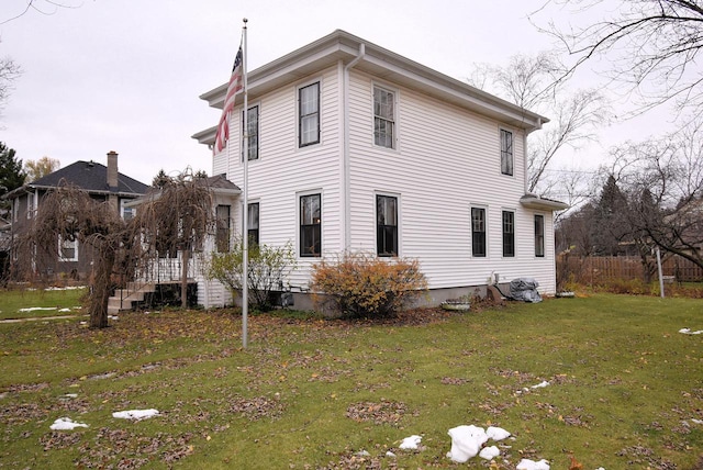
[[[248,163],[248,201],[259,203],[259,240],[292,243],[299,254],[299,195],[322,195],[323,256],[344,251],[343,217],[343,71],[331,67],[260,98],[259,159]],[[491,119],[439,102],[416,91],[350,71],[349,248],[376,251],[376,194],[399,198],[399,245],[402,257],[417,258],[431,289],[482,286],[492,273],[501,281],[538,280],[540,292],[554,293],[553,213],[526,210],[523,131],[513,133],[514,175],[500,170],[500,128]],[[321,143],[298,147],[298,88],[321,83]],[[397,148],[373,145],[372,86],[395,92]],[[231,122],[228,155],[213,158],[213,174],[244,189],[241,159],[242,108]],[[241,233],[242,198],[233,205],[234,232]],[[470,208],[487,210],[488,254],[471,256]],[[502,256],[502,211],[515,212],[515,257]],[[535,257],[534,214],[545,216],[545,257]],[[301,258],[288,280],[306,287],[310,267],[320,258]],[[226,298],[225,292],[211,296]],[[213,304],[210,302],[210,304]]]

